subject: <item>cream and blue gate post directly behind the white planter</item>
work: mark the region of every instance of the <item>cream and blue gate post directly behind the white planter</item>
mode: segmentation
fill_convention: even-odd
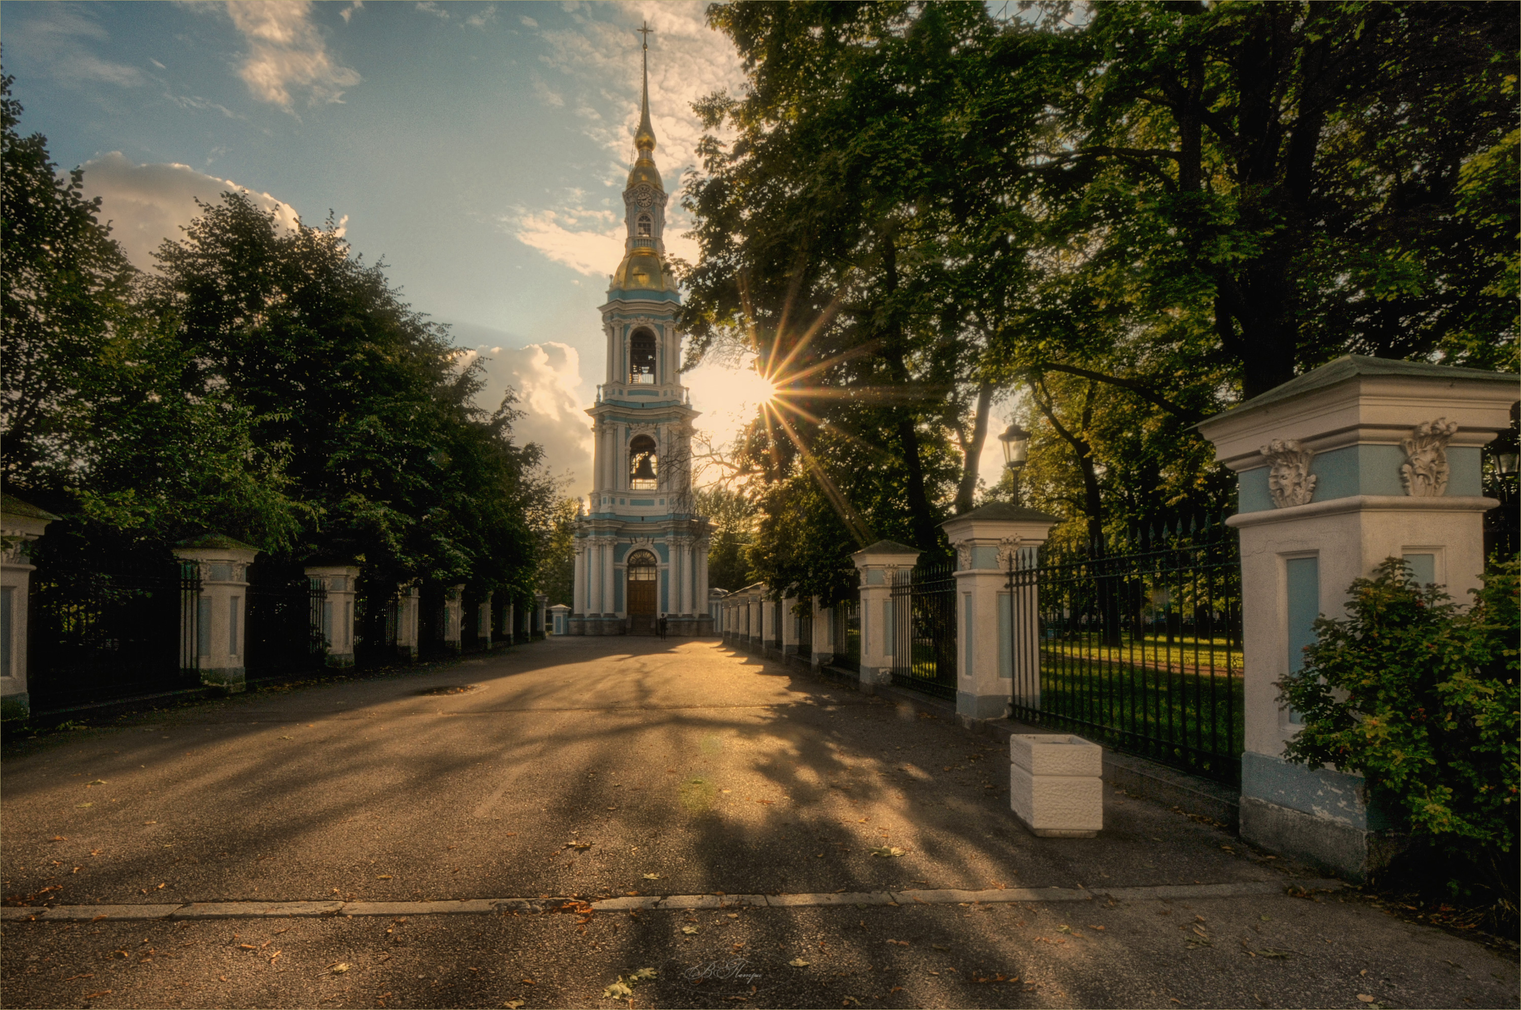
[[[1059,522],[1033,508],[992,502],[940,523],[957,554],[955,709],[964,726],[1008,715],[1011,657],[1016,650],[1039,648],[1022,640],[1022,625],[1011,621],[1010,552],[1039,548]]]

